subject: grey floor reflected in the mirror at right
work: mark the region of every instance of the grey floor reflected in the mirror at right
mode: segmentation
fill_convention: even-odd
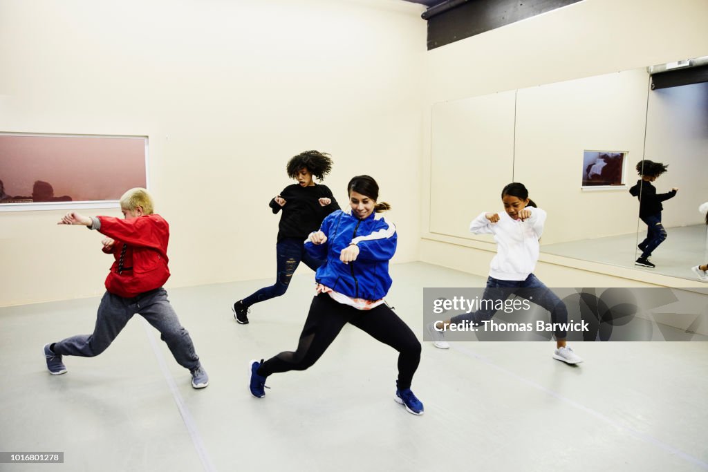
[[[666,241],[661,243],[661,246],[656,248],[651,256],[651,262],[656,264],[653,269],[634,265],[634,260],[639,257],[641,252],[636,248],[636,244],[646,237],[645,224],[639,226],[639,238],[633,233],[583,239],[542,245],[541,251],[573,259],[593,260],[622,267],[636,267],[636,270],[656,272],[698,282],[691,267],[708,263],[706,225],[676,226],[667,228],[666,232],[668,234]]]

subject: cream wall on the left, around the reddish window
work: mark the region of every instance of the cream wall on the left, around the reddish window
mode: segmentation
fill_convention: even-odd
[[[0,0],[0,131],[147,135],[156,210],[171,224],[167,287],[274,277],[267,204],[306,149],[332,154],[325,183],[342,204],[353,175],[377,178],[399,228],[394,260],[417,260],[421,10]],[[0,306],[103,291],[100,235],[55,225],[60,214],[0,214]]]

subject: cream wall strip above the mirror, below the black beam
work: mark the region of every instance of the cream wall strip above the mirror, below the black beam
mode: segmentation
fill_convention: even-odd
[[[704,0],[584,0],[426,54],[429,103],[700,57]]]

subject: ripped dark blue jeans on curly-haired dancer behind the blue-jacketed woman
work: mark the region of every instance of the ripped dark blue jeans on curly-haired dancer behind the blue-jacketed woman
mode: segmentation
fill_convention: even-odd
[[[251,306],[259,301],[265,301],[287,292],[292,274],[300,261],[305,263],[312,270],[324,264],[324,260],[315,259],[305,251],[304,239],[284,238],[275,245],[275,253],[278,258],[278,276],[275,277],[275,284],[270,287],[263,287],[258,292],[249,295],[244,299],[245,306]]]

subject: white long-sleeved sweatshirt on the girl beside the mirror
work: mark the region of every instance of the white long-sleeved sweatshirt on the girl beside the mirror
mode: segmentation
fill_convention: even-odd
[[[496,255],[489,264],[489,275],[495,279],[526,280],[536,267],[546,212],[535,207],[525,209],[531,212],[525,221],[512,219],[502,211],[496,223],[486,219],[484,212],[469,224],[469,231],[474,234],[494,235]]]

